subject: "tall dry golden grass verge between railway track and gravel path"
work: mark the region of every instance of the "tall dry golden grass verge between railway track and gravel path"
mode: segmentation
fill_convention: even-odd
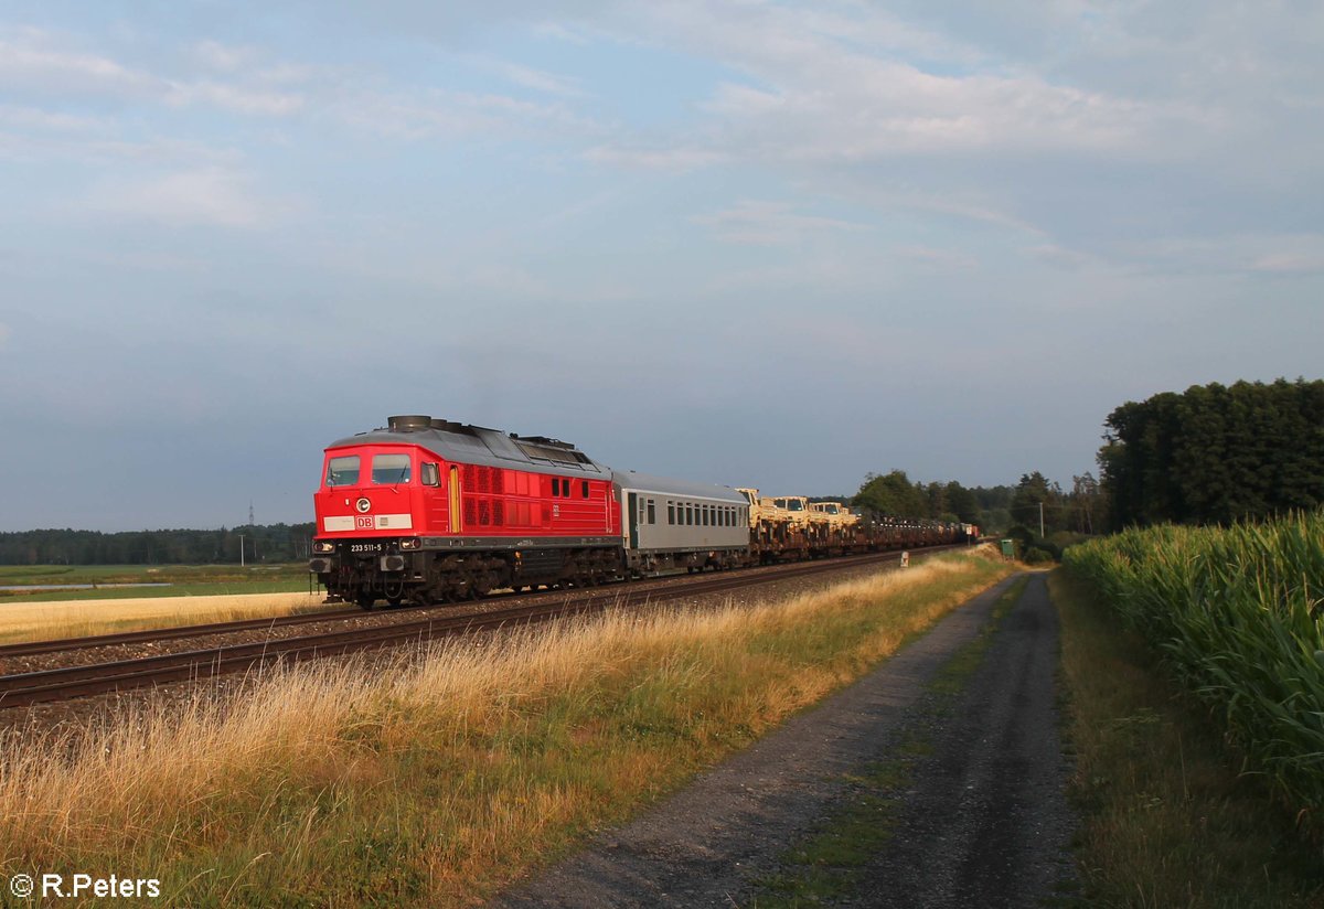
[[[847,684],[1010,569],[927,561],[756,607],[626,613],[0,746],[0,873],[154,905],[469,904]],[[8,898],[8,894],[4,894]]]

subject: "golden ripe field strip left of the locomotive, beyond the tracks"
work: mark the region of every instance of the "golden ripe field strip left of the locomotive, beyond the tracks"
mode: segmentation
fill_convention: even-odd
[[[323,609],[323,598],[324,594],[252,593],[4,603],[0,605],[0,643],[293,615]]]

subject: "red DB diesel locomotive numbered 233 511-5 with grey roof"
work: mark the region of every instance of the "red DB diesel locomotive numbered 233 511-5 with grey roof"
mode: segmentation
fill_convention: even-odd
[[[310,568],[364,607],[620,572],[612,471],[557,439],[391,417],[331,443],[322,476]]]

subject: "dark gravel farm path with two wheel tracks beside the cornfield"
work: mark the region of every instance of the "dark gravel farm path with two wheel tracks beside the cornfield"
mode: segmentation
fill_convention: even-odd
[[[990,622],[1006,581],[846,691],[786,722],[498,906],[788,905],[797,845],[862,802],[861,781],[920,737],[886,798],[888,835],[847,885],[853,906],[1034,906],[1071,877],[1054,701],[1057,615],[1042,576],[957,695],[931,683]],[[866,783],[867,785],[867,783]],[[874,793],[878,795],[878,793]],[[817,901],[817,900],[816,900]]]

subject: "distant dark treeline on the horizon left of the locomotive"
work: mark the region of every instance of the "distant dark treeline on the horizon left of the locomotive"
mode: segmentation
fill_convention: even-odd
[[[218,531],[20,531],[0,533],[0,565],[294,562],[308,557],[312,532],[311,521]]]

